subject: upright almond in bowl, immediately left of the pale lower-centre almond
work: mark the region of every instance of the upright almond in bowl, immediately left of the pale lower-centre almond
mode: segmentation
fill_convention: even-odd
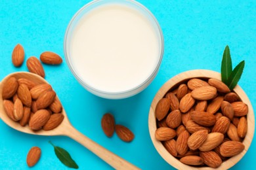
[[[176,141],[176,150],[179,154],[184,155],[188,151],[188,131],[182,131]]]

